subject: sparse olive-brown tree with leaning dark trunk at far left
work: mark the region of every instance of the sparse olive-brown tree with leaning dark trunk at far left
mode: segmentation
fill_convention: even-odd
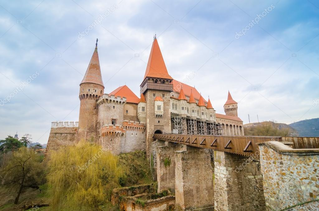
[[[18,189],[14,204],[18,204],[22,190],[26,187],[39,188],[43,168],[41,157],[33,149],[21,147],[14,153],[8,165],[0,172],[4,185]]]

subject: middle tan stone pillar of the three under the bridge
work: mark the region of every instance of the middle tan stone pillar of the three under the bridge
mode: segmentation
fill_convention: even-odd
[[[187,146],[175,152],[175,206],[213,209],[213,169],[205,149]],[[209,210],[209,209],[208,209]]]

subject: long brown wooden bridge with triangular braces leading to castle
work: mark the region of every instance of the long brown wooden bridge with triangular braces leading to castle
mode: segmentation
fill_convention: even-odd
[[[269,141],[293,142],[295,149],[319,149],[319,137],[154,134],[153,138],[242,156],[259,156],[257,143]]]

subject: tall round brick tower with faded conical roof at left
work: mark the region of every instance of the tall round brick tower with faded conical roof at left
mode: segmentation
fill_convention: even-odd
[[[97,41],[95,49],[80,84],[80,114],[78,140],[97,140],[97,109],[96,100],[104,94],[101,76]]]

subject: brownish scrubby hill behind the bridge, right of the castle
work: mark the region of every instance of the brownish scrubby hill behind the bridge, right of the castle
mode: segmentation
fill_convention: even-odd
[[[293,127],[284,123],[275,123],[272,121],[244,124],[244,132],[245,135],[299,136],[298,131]]]

